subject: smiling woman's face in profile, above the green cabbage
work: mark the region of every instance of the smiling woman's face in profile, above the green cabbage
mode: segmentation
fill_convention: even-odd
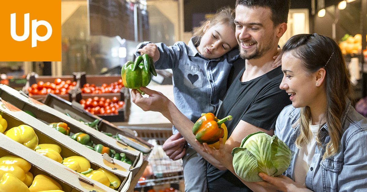
[[[316,74],[306,72],[302,61],[286,52],[281,57],[281,69],[284,76],[279,88],[286,90],[292,106],[295,108],[317,104],[318,91]]]

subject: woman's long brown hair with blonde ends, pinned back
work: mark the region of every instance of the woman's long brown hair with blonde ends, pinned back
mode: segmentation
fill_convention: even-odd
[[[338,44],[330,37],[314,34],[299,34],[291,37],[283,46],[283,52],[291,51],[292,55],[301,59],[303,68],[309,74],[320,68],[326,70],[325,91],[326,111],[324,119],[330,136],[326,144],[323,160],[339,152],[339,144],[343,134],[341,124],[342,115],[346,110],[346,98],[350,94],[350,80],[344,57]],[[301,108],[300,135],[295,144],[298,148],[310,141],[312,133],[309,125],[312,122],[311,111],[308,106]],[[321,125],[320,125],[321,128]],[[322,147],[324,142],[317,134],[316,142]]]

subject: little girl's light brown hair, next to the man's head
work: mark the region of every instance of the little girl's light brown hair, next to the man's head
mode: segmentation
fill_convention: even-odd
[[[235,30],[236,25],[234,23],[234,20],[235,20],[235,11],[232,8],[230,8],[229,6],[219,8],[214,16],[206,19],[205,21],[201,21],[200,27],[193,30],[193,36],[203,36],[205,33],[204,29],[208,21],[209,21],[208,29],[214,25],[228,24],[228,26],[230,26],[233,30]],[[194,42],[194,44],[196,43],[199,42]]]

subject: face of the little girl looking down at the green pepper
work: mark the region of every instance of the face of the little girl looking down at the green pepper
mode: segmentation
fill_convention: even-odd
[[[203,57],[215,59],[236,46],[235,30],[227,24],[218,24],[206,29],[196,49]]]

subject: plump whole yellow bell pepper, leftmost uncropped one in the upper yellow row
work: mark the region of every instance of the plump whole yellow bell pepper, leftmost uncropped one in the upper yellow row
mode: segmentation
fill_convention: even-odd
[[[38,137],[33,128],[28,125],[13,127],[6,131],[6,136],[32,150],[36,149],[38,145]]]

